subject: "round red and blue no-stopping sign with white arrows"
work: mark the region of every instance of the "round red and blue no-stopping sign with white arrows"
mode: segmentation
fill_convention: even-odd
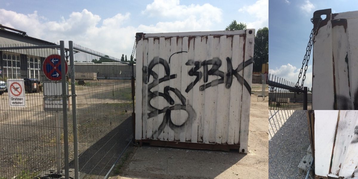
[[[66,61],[65,64],[65,71],[67,74],[68,65]],[[60,81],[62,79],[61,56],[58,54],[48,56],[42,64],[42,70],[48,79],[52,81]]]

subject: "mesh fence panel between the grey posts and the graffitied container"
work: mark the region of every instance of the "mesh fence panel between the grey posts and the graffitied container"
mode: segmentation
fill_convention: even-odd
[[[132,135],[132,67],[118,62],[88,63],[119,59],[77,44],[73,49],[79,178],[104,178],[127,145],[121,141]],[[91,78],[76,73],[88,73]]]

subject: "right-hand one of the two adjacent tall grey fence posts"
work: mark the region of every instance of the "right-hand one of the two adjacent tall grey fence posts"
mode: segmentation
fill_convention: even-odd
[[[69,62],[71,69],[71,96],[72,96],[72,119],[73,119],[73,151],[74,151],[74,178],[78,179],[78,144],[77,144],[77,117],[76,117],[76,86],[74,83],[74,58],[73,42],[68,42]]]

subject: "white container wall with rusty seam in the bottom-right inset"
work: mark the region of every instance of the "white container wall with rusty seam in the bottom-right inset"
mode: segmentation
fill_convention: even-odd
[[[315,173],[358,177],[358,111],[315,110]]]

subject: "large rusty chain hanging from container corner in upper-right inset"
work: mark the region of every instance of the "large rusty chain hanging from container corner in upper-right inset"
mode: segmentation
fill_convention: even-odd
[[[303,89],[303,83],[304,83],[304,81],[305,81],[305,79],[306,79],[306,72],[307,72],[307,68],[308,68],[308,62],[309,62],[309,60],[310,60],[310,55],[311,55],[311,49],[312,49],[312,45],[313,45],[313,40],[314,40],[315,34],[316,34],[317,30],[318,30],[318,26],[319,26],[319,24],[320,24],[321,21],[322,21],[321,15],[315,15],[315,16],[313,16],[313,18],[311,19],[311,22],[313,23],[313,21],[314,21],[316,18],[319,18],[319,19],[318,19],[318,24],[317,24],[316,28],[312,28],[312,30],[311,30],[310,40],[308,41],[308,44],[307,44],[307,47],[306,47],[306,54],[305,54],[305,57],[303,58],[302,67],[301,67],[300,74],[298,75],[298,80],[297,80],[297,83],[296,83],[296,88]],[[301,78],[302,72],[303,72],[303,67],[305,67],[305,71],[304,71],[304,73],[303,73],[301,86],[299,86],[300,78]]]

